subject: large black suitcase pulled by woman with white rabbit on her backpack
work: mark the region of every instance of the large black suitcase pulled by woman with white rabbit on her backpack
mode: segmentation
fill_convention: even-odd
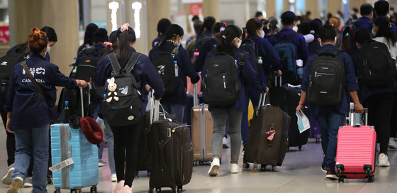
[[[155,101],[154,116],[158,117],[158,101]],[[158,118],[155,120],[158,120]],[[190,143],[190,128],[185,124],[167,119],[152,123],[152,170],[150,170],[149,192],[162,187],[177,192],[191,180],[193,172],[193,150]]]

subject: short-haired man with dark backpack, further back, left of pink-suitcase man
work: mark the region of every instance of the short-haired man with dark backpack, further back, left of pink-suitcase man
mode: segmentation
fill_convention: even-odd
[[[308,60],[308,46],[306,45],[305,38],[303,38],[303,35],[292,30],[295,21],[295,13],[292,11],[284,12],[281,15],[283,29],[274,35],[277,40],[274,48],[279,53],[282,65],[283,84],[301,84],[301,79],[298,77],[296,60],[303,60],[303,64],[306,64]]]

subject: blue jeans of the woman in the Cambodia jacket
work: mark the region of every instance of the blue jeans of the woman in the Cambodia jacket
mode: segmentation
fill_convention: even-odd
[[[47,192],[48,148],[50,125],[30,128],[18,128],[15,131],[16,152],[15,170],[11,178],[28,175],[30,158],[33,157],[33,190],[32,193]]]

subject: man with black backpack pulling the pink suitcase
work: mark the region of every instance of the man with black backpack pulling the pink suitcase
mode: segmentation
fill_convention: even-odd
[[[345,114],[350,110],[350,99],[354,111],[363,113],[362,104],[357,96],[357,83],[352,58],[335,47],[336,31],[324,25],[318,31],[322,45],[318,53],[308,58],[303,70],[301,99],[296,111],[301,114],[303,104],[308,99],[311,114],[321,129],[321,145],[325,154],[323,162],[328,180],[337,180],[335,175],[335,156],[337,130],[344,125]],[[323,167],[323,166],[322,166]]]

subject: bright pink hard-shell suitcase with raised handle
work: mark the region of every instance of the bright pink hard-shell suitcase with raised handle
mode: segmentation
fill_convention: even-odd
[[[335,170],[339,182],[345,178],[374,182],[376,132],[374,126],[367,126],[368,109],[364,109],[364,116],[365,126],[342,126],[337,132]]]

